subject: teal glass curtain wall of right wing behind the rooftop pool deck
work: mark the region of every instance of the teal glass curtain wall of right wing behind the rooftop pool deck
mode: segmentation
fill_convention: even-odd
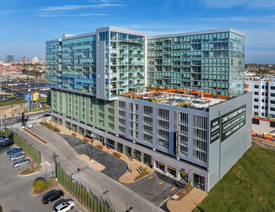
[[[147,83],[243,94],[244,36],[231,29],[213,31],[148,37]]]

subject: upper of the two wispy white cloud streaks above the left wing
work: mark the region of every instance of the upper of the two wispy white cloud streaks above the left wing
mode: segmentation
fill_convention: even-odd
[[[41,10],[43,11],[57,11],[57,10],[76,10],[76,9],[87,9],[87,8],[102,8],[102,7],[116,7],[116,6],[125,6],[123,4],[88,4],[88,5],[73,5],[67,4],[63,6],[52,6],[52,7],[45,7]]]

